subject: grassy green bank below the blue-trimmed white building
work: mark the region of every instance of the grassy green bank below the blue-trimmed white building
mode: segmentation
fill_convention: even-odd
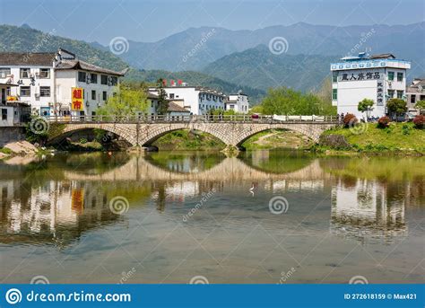
[[[412,123],[391,123],[388,128],[377,128],[376,123],[368,123],[356,132],[349,128],[333,128],[325,131],[326,135],[342,135],[356,152],[403,152],[425,154],[425,130],[414,128]],[[317,149],[326,149],[317,146]]]

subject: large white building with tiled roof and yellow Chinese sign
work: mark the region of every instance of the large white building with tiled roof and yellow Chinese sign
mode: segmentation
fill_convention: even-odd
[[[0,83],[18,84],[7,93],[41,116],[94,115],[115,92],[116,72],[93,66],[65,49],[56,53],[0,52]],[[72,110],[72,88],[82,88],[82,108]]]

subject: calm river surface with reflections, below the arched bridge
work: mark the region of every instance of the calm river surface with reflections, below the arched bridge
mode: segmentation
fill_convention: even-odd
[[[12,160],[0,163],[0,280],[423,283],[424,214],[424,158]]]

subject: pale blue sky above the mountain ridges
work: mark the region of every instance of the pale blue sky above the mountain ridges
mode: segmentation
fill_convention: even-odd
[[[155,41],[189,27],[255,30],[295,22],[408,24],[425,20],[425,0],[0,0],[0,23],[108,44]]]

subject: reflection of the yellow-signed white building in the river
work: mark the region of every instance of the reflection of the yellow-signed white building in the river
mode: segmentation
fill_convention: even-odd
[[[0,199],[0,242],[41,237],[64,245],[99,222],[117,219],[105,193],[84,182],[49,180],[40,187],[22,188],[19,181],[0,181]]]

